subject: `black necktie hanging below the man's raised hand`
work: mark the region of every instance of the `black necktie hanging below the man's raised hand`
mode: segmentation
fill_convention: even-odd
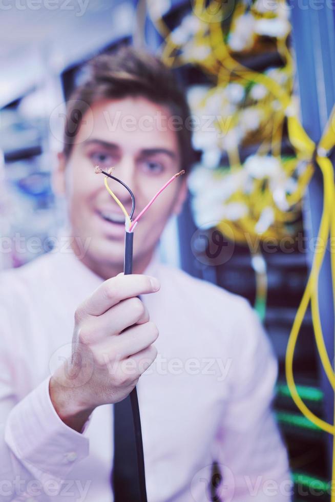
[[[112,487],[115,502],[140,502],[141,500],[130,395],[114,404]]]

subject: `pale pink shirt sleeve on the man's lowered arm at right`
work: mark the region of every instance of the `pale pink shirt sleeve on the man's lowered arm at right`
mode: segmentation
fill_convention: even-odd
[[[277,361],[254,310],[242,304],[234,334],[231,397],[216,452],[229,502],[288,502],[292,483],[286,449],[271,410]]]

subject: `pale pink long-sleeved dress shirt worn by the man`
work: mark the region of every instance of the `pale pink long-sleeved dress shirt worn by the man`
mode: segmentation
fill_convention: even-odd
[[[137,389],[150,502],[205,502],[213,459],[225,502],[290,499],[287,456],[269,405],[277,364],[248,303],[155,258],[142,297],[158,356]],[[49,396],[73,316],[102,279],[71,251],[0,275],[0,501],[110,502],[113,405],[82,434]]]

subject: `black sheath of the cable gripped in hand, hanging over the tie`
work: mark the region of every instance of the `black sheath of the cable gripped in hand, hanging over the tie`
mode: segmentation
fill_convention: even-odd
[[[133,241],[134,233],[126,232],[124,238],[124,275],[132,274],[133,271]],[[133,412],[133,422],[135,430],[136,453],[137,453],[137,468],[139,477],[139,489],[141,502],[147,502],[146,488],[145,488],[145,471],[144,471],[144,454],[141,430],[141,417],[138,406],[137,390],[136,387],[130,393],[130,401]]]

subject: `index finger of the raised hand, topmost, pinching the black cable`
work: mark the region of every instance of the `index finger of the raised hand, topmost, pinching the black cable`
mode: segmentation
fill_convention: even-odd
[[[79,318],[101,316],[121,300],[153,293],[159,289],[159,281],[155,277],[142,274],[119,274],[103,282],[93,294],[77,309]]]

